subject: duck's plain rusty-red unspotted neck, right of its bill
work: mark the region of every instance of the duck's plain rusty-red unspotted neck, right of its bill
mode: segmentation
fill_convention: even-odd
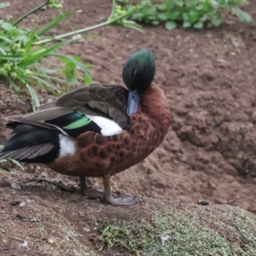
[[[155,128],[166,135],[171,121],[170,105],[164,91],[157,84],[150,84],[140,102],[141,110],[153,120]]]

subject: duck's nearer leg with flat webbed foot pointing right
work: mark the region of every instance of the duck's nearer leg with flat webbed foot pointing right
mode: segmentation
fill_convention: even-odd
[[[118,205],[118,206],[131,206],[136,203],[136,200],[133,196],[129,197],[117,197],[113,198],[111,186],[110,186],[110,174],[105,174],[103,176],[103,185],[105,192],[105,201],[108,204]]]

